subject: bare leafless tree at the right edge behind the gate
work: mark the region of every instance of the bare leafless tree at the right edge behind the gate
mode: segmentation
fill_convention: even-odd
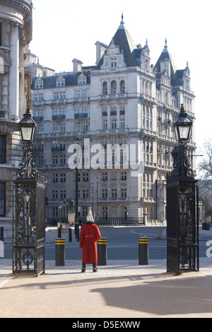
[[[203,144],[204,158],[199,162],[198,170],[202,174],[203,179],[212,179],[212,142],[211,139],[204,141]]]

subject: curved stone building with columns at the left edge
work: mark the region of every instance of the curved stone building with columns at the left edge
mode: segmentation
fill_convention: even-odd
[[[32,75],[25,71],[32,39],[32,4],[0,0],[0,225],[11,236],[13,179],[21,161],[18,121],[31,106]]]

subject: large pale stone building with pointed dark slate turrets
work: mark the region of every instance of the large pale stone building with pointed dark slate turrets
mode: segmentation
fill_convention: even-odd
[[[165,47],[155,66],[148,43],[135,45],[123,17],[110,45],[96,42],[95,66],[73,59],[73,71],[33,78],[36,167],[47,176],[47,221],[78,211],[98,219],[165,220],[165,180],[177,141],[172,123],[181,104],[194,120],[188,64],[177,70]],[[194,131],[189,155],[195,150]],[[192,158],[193,167],[194,160]]]

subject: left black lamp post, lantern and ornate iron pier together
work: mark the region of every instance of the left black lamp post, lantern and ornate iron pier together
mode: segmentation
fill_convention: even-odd
[[[34,168],[33,137],[37,124],[29,107],[19,128],[23,158],[14,180],[13,273],[26,266],[26,271],[39,275],[45,272],[45,176]]]

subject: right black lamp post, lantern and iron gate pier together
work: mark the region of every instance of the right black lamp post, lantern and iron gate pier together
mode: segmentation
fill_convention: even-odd
[[[192,120],[181,105],[173,124],[178,145],[172,151],[173,170],[167,174],[167,271],[199,271],[199,195],[187,155]]]

